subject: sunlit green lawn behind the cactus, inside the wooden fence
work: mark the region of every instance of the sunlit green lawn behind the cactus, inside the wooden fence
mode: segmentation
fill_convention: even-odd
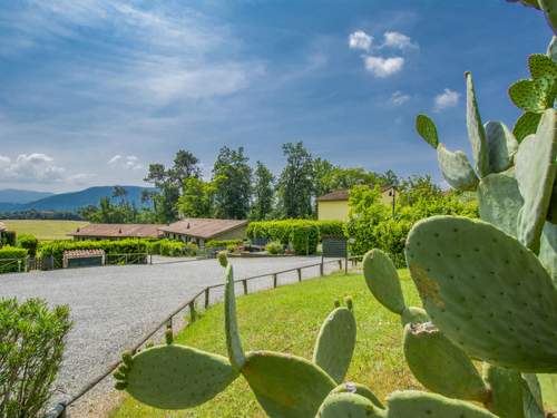
[[[407,302],[419,303],[407,270],[399,271]],[[380,399],[397,389],[419,389],[408,369],[398,315],[380,305],[360,274],[333,274],[237,298],[237,314],[244,349],[275,350],[312,358],[321,322],[335,299],[351,295],[358,321],[358,342],[346,380],[368,385]],[[176,336],[177,343],[226,356],[223,304],[209,308],[203,318]],[[266,417],[245,380],[240,377],[224,392],[195,409],[162,411],[129,396],[111,418],[139,417]]]

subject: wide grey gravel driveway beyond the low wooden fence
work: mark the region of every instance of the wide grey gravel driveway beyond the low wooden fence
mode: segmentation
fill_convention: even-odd
[[[232,259],[235,278],[243,279],[319,263],[319,257]],[[106,371],[120,353],[137,343],[170,312],[205,286],[223,282],[215,260],[154,265],[86,268],[3,274],[0,298],[43,298],[51,304],[69,304],[74,328],[57,386],[57,400],[69,399]],[[338,269],[328,264],[325,271]],[[303,276],[319,275],[319,268]],[[296,272],[278,276],[278,284],[295,282]],[[250,282],[250,292],[268,289],[270,278]],[[242,292],[241,286],[236,289]],[[212,303],[222,290],[212,293]],[[78,415],[72,414],[72,417]]]

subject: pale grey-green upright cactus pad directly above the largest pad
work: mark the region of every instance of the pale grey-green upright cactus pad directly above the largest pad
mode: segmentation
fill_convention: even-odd
[[[480,217],[517,236],[518,213],[524,205],[514,169],[490,174],[478,185],[478,208]]]

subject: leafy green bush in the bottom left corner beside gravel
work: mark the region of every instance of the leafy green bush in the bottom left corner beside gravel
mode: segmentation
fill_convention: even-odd
[[[70,328],[68,307],[0,300],[0,417],[45,414]]]

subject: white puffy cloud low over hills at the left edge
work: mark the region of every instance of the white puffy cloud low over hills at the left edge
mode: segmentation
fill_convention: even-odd
[[[12,161],[0,156],[0,182],[52,183],[65,178],[66,169],[55,164],[52,157],[40,154],[20,154]]]

